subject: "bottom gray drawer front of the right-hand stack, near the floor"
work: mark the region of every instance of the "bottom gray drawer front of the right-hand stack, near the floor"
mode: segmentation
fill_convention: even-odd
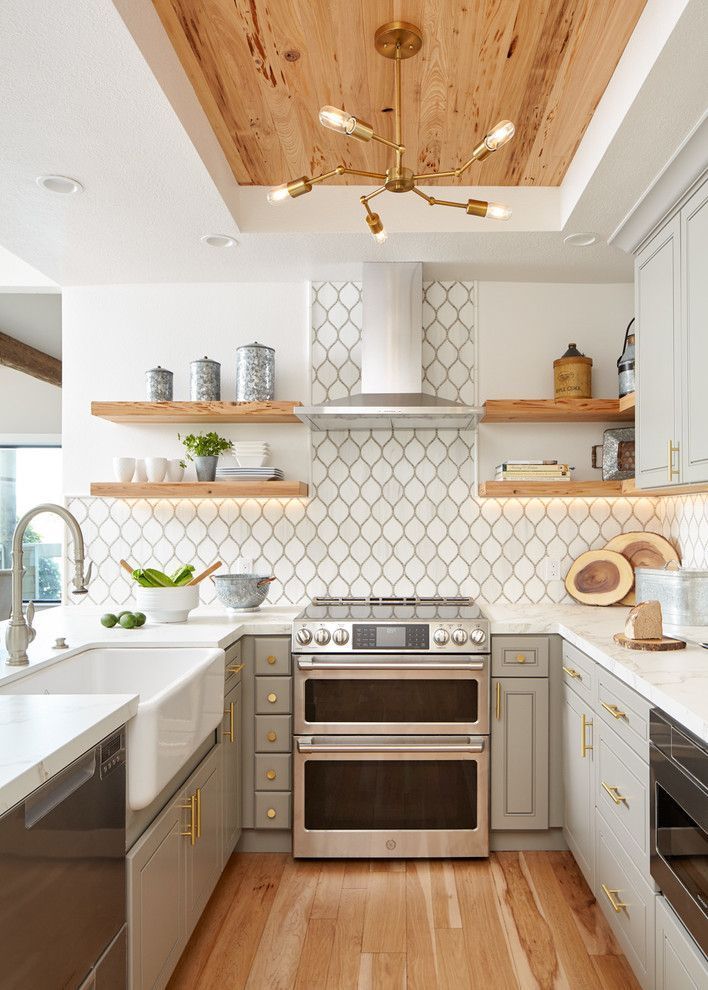
[[[654,985],[655,894],[632,865],[612,829],[596,813],[595,895],[643,987]],[[604,884],[604,887],[603,887]],[[610,901],[623,904],[615,910]]]

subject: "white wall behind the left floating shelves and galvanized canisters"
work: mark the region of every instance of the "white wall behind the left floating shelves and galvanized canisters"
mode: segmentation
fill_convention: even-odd
[[[91,416],[92,400],[145,399],[145,371],[174,372],[175,399],[189,398],[189,364],[221,362],[221,396],[234,398],[236,348],[276,349],[276,399],[308,401],[309,287],[304,282],[119,285],[63,293],[64,490],[81,494],[113,478],[112,458],[178,457],[177,433],[194,425],[124,426]],[[307,481],[304,426],[218,426],[231,439],[258,436],[286,477]]]

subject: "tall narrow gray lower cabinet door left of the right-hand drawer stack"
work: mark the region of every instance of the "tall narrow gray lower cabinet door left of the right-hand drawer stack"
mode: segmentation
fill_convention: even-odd
[[[591,889],[595,886],[593,713],[563,685],[563,834]]]

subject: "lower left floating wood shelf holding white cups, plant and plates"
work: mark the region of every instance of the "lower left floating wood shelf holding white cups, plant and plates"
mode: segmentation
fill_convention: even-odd
[[[105,498],[304,498],[304,481],[93,481],[91,494]]]

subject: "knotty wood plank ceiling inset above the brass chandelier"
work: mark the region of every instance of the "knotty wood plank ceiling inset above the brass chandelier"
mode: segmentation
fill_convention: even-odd
[[[489,126],[508,118],[513,143],[458,181],[553,186],[646,0],[153,3],[242,185],[275,185],[338,163],[385,171],[390,149],[326,130],[317,112],[345,107],[392,136],[393,66],[376,54],[373,37],[402,19],[424,35],[420,54],[403,65],[406,164],[454,168]]]

